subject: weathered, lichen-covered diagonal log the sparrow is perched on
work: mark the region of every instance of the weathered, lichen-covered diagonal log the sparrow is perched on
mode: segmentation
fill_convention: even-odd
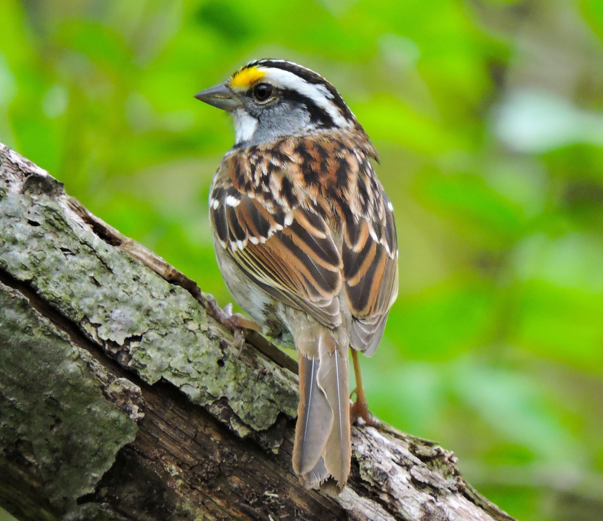
[[[451,452],[353,428],[349,485],[291,469],[296,364],[0,145],[0,505],[22,520],[511,520]]]

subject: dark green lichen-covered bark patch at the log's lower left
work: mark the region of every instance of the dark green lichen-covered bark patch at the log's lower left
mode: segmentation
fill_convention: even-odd
[[[37,462],[30,479],[51,505],[73,512],[137,431],[103,396],[82,351],[0,283],[0,449],[8,460],[17,448],[28,454]],[[31,471],[27,460],[14,464]]]

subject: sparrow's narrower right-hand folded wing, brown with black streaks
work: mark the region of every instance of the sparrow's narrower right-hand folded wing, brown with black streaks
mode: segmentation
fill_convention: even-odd
[[[378,186],[373,210],[344,212],[344,290],[352,312],[350,346],[371,356],[398,293],[398,246],[393,208]]]

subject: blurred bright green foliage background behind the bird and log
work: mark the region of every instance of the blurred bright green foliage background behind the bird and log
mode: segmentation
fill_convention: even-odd
[[[0,19],[0,141],[222,305],[207,195],[232,123],[192,96],[251,58],[326,76],[398,225],[371,409],[519,519],[603,518],[603,2],[1,0]]]

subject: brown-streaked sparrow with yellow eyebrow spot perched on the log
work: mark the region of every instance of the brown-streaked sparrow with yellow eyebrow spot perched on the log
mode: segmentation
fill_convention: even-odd
[[[233,117],[209,196],[216,260],[262,332],[298,355],[292,467],[301,484],[342,491],[350,424],[371,416],[358,352],[372,356],[398,293],[393,206],[367,133],[323,76],[253,60],[195,98]],[[356,375],[350,406],[349,353]]]

